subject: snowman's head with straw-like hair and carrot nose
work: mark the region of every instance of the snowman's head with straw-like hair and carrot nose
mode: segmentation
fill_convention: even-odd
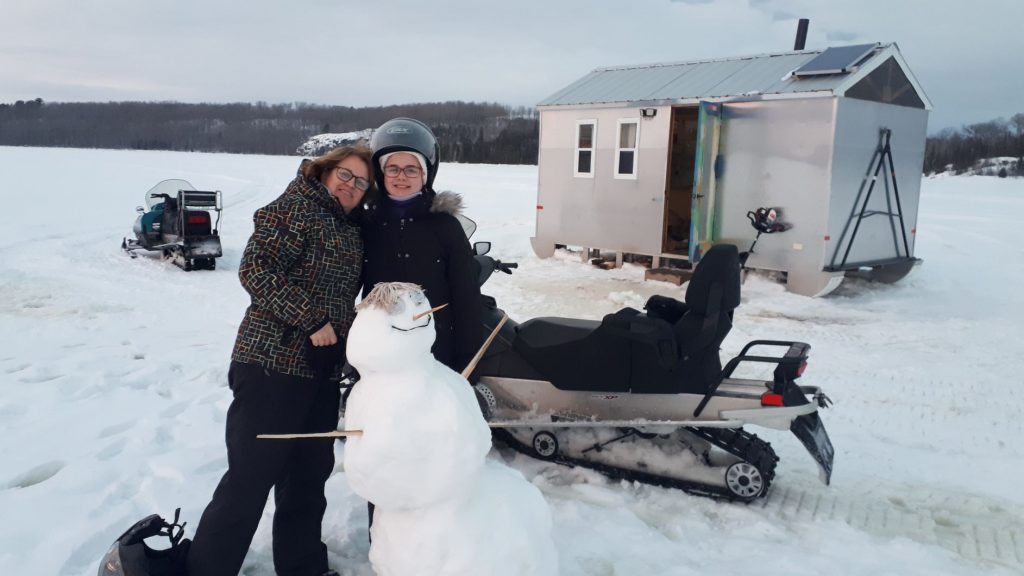
[[[346,352],[359,373],[393,371],[433,358],[434,320],[423,288],[382,282],[355,310]]]

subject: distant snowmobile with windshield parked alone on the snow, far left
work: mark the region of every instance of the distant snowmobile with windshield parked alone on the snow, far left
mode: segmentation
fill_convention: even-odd
[[[145,193],[145,208],[132,227],[134,239],[121,248],[131,257],[136,250],[160,251],[184,271],[214,270],[220,248],[220,191],[196,190],[185,180],[163,180]],[[216,212],[213,220],[211,212]]]

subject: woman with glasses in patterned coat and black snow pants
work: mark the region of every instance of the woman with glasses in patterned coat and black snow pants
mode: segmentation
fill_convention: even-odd
[[[304,160],[276,200],[256,211],[239,268],[252,303],[227,380],[227,471],[196,530],[190,576],[239,573],[273,488],[273,564],[281,576],[333,574],[321,524],[334,468],[331,440],[268,442],[258,434],[335,429],[344,337],[355,316],[373,181],[371,152],[336,149]]]

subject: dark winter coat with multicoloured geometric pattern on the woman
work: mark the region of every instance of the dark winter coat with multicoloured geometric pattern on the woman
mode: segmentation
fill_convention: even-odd
[[[312,378],[309,335],[330,321],[343,338],[355,318],[362,272],[359,228],[301,168],[285,193],[253,219],[256,230],[239,266],[252,303],[231,360]],[[341,360],[339,352],[334,377],[340,375]]]

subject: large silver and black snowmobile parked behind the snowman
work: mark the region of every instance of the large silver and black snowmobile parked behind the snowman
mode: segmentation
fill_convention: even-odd
[[[516,264],[477,243],[482,286]],[[735,246],[710,248],[685,301],[654,295],[644,312],[623,308],[601,321],[508,320],[474,375],[499,442],[536,458],[585,466],[628,481],[752,501],[768,493],[778,457],[742,426],[790,429],[828,484],[834,450],[817,386],[798,384],[810,345],[754,340],[723,367],[719,346],[739,304]],[[486,333],[505,313],[483,297]],[[767,367],[770,377],[738,378]]]

